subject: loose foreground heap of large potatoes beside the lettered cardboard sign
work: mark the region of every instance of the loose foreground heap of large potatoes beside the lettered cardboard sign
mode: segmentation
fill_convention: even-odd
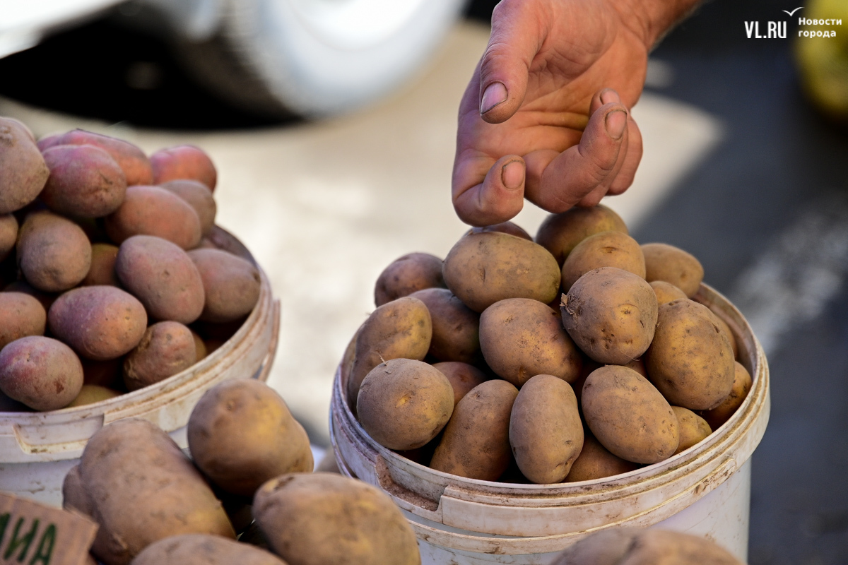
[[[64,479],[63,507],[99,524],[104,565],[419,565],[391,498],[312,473],[310,441],[269,386],[225,381],[188,422],[187,457],[138,418],[104,426]],[[237,541],[238,539],[238,541]]]

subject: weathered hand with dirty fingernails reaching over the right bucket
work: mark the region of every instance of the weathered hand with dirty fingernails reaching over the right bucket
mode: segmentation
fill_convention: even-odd
[[[453,174],[460,219],[504,222],[525,197],[555,213],[594,206],[633,183],[642,138],[629,109],[658,34],[625,4],[498,4],[460,104]]]

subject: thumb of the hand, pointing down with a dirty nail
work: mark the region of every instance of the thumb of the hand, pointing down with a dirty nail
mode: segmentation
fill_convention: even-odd
[[[492,14],[492,35],[480,63],[480,115],[499,124],[518,111],[530,64],[544,41],[538,3],[503,0]]]

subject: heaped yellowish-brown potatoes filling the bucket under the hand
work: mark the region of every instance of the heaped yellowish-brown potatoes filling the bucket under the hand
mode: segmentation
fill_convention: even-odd
[[[728,325],[692,298],[704,271],[639,245],[609,208],[470,230],[444,261],[406,255],[342,362],[382,446],[470,479],[552,484],[661,462],[751,386]]]

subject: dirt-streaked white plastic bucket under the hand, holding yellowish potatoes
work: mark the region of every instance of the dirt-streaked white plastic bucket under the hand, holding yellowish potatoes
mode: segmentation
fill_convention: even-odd
[[[507,485],[441,473],[371,440],[345,402],[347,374],[339,368],[330,418],[338,466],[393,497],[416,531],[424,563],[547,564],[586,535],[621,526],[705,535],[746,561],[749,459],[768,422],[768,366],[750,326],[726,298],[702,285],[695,300],[733,330],[753,385],[727,423],[666,461],[612,478],[557,485]]]

